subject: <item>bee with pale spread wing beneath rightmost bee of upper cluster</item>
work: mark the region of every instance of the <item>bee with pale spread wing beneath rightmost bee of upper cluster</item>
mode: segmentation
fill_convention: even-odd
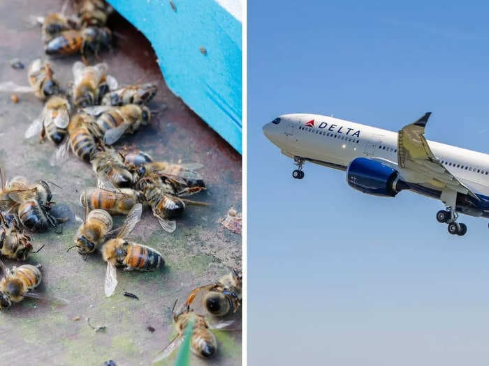
[[[140,126],[149,124],[151,112],[145,106],[135,104],[122,107],[96,106],[85,108],[85,112],[96,116],[98,130],[103,135],[104,144],[112,145],[124,135],[134,133]]]

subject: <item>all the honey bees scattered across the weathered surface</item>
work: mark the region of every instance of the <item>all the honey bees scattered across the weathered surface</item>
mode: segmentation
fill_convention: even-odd
[[[156,95],[157,86],[146,82],[121,87],[108,73],[106,63],[88,64],[89,56],[98,58],[102,49],[110,47],[112,33],[105,26],[110,13],[112,8],[105,1],[81,0],[75,15],[61,11],[43,18],[41,36],[46,54],[82,56],[83,62],[73,63],[73,82],[63,86],[54,77],[51,63],[36,59],[27,70],[29,85],[0,83],[0,91],[31,93],[44,102],[24,137],[38,136],[40,142],[48,139],[54,144],[51,165],[63,164],[73,153],[92,166],[96,183],[80,195],[85,217],[75,215],[80,226],[68,251],[76,248],[85,260],[96,253],[101,256],[107,264],[107,297],[117,288],[117,267],[124,271],[150,271],[165,265],[160,252],[129,238],[140,222],[143,208],[150,208],[161,227],[172,233],[187,206],[208,206],[187,198],[206,190],[198,173],[203,165],[154,160],[145,151],[114,146],[125,134],[135,134],[151,123],[155,111],[148,104]],[[22,176],[6,181],[3,169],[0,181],[1,258],[26,261],[30,254],[42,249],[34,252],[31,236],[26,233],[43,232],[50,227],[61,229],[68,219],[52,214],[54,183],[32,183]],[[125,215],[124,222],[115,225],[113,215]],[[0,270],[0,310],[24,298],[67,303],[36,292],[42,279],[41,265],[22,264],[9,269],[0,261]],[[198,303],[195,299],[201,295],[204,312],[224,317],[240,308],[241,286],[242,273],[233,269],[218,281],[191,291],[179,310],[175,310],[175,302],[172,312],[177,337],[156,360],[166,358],[177,348],[191,319],[191,350],[202,357],[216,353],[217,339],[212,329],[225,328],[231,322],[212,323],[191,305]]]

